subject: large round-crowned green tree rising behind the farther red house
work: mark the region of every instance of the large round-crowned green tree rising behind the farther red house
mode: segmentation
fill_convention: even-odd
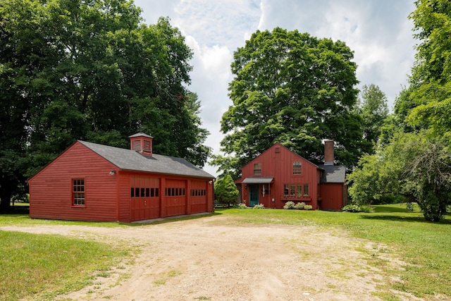
[[[255,32],[234,54],[233,105],[221,120],[228,156],[213,163],[237,175],[275,142],[319,163],[323,139],[335,140],[340,163],[357,163],[364,142],[362,119],[352,111],[358,93],[352,58],[340,41],[281,28]]]

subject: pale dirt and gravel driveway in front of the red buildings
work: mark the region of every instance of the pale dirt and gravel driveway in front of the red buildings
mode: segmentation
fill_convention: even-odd
[[[215,215],[127,228],[0,229],[139,246],[131,264],[61,300],[380,300],[372,294],[377,285],[393,281],[366,264],[390,254],[386,247],[316,226],[249,225]]]

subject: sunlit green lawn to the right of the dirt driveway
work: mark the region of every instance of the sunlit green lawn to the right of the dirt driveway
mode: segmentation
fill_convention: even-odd
[[[393,269],[377,256],[369,254],[369,263],[383,269],[388,283],[380,297],[400,300],[390,289],[426,299],[434,295],[451,298],[451,216],[440,223],[424,220],[418,208],[407,211],[405,204],[373,206],[372,213],[299,211],[283,209],[218,209],[223,214],[238,216],[239,223],[276,223],[316,225],[325,229],[343,229],[357,238],[388,245],[388,255],[407,263],[404,269]],[[393,254],[390,254],[393,252]]]

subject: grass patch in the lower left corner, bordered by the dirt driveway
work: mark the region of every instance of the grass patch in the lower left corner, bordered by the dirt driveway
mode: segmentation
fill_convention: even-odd
[[[130,256],[106,243],[0,231],[0,300],[53,300],[92,284]]]

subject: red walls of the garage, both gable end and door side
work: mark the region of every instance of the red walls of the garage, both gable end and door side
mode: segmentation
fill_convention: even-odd
[[[113,176],[110,175],[112,169],[116,171]],[[214,211],[210,179],[166,177],[162,174],[121,171],[80,142],[75,142],[28,181],[30,216],[128,223]],[[72,180],[78,178],[85,180],[84,207],[73,206]],[[157,188],[158,196],[155,194]],[[166,188],[171,190],[168,195]],[[139,197],[135,197],[135,189],[139,190]],[[191,196],[193,189],[204,191],[204,195],[194,193]]]

